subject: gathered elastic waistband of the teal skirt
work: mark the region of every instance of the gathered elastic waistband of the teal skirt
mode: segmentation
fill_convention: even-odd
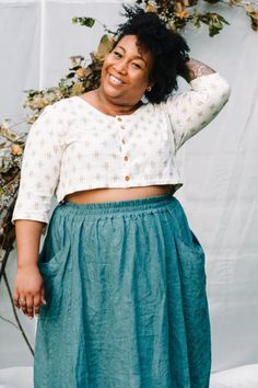
[[[149,196],[138,199],[113,201],[94,204],[74,204],[68,201],[59,203],[58,207],[64,210],[71,210],[77,214],[99,215],[113,213],[139,212],[144,209],[155,209],[169,204],[173,199],[173,194],[162,194],[157,196]]]

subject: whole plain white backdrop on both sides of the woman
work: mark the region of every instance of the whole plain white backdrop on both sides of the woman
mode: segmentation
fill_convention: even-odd
[[[219,70],[232,95],[180,150],[185,185],[177,197],[207,252],[212,370],[219,372],[258,363],[258,33],[241,9],[215,10],[231,22],[219,36],[210,38],[206,27],[184,35],[191,56]],[[21,117],[23,90],[56,84],[71,55],[96,48],[102,27],[72,25],[73,16],[97,18],[113,30],[120,11],[121,1],[0,0],[0,119]],[[12,285],[14,269],[15,255],[8,265]],[[13,316],[3,284],[0,293],[0,369],[30,366],[21,334],[4,320]],[[33,342],[35,323],[23,322]]]

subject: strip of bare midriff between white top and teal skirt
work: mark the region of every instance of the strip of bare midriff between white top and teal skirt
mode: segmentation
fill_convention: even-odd
[[[68,194],[64,201],[72,202],[75,204],[92,204],[92,203],[103,203],[113,201],[129,201],[145,198],[150,196],[157,196],[162,194],[168,194],[173,192],[173,186],[171,185],[153,185],[153,186],[142,186],[142,187],[103,187],[94,190],[84,190],[80,192],[74,192]]]

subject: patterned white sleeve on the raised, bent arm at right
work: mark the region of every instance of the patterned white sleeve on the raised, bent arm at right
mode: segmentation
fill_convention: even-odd
[[[218,115],[231,92],[227,81],[218,72],[194,79],[190,87],[165,103],[176,151]]]

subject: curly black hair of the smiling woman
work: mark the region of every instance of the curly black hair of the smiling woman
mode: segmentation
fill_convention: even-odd
[[[154,65],[150,80],[154,85],[145,96],[151,103],[165,101],[173,90],[177,90],[177,76],[187,75],[189,47],[185,38],[169,31],[153,12],[139,7],[124,5],[126,23],[119,24],[117,42],[126,35],[136,35],[139,47],[153,54]]]

